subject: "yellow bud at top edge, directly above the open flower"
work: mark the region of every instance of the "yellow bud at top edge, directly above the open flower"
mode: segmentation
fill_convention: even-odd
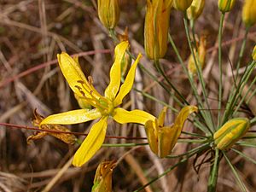
[[[113,29],[119,21],[118,0],[98,0],[98,15],[102,24],[108,29]]]

